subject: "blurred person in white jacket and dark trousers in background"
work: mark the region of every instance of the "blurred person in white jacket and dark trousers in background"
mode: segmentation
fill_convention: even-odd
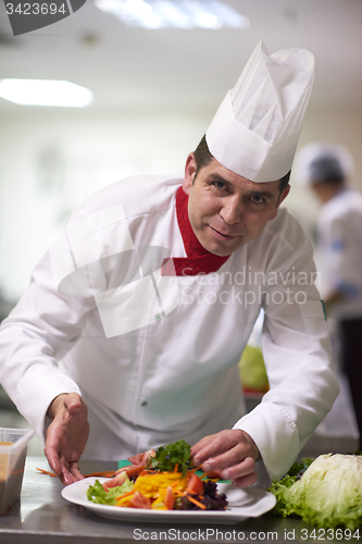
[[[317,221],[323,298],[337,323],[338,360],[351,391],[362,448],[362,195],[350,187],[353,159],[344,146],[315,141],[298,153],[299,181],[322,209]]]

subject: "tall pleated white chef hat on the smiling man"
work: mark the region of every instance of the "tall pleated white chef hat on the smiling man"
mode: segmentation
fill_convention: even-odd
[[[207,131],[210,152],[252,182],[280,180],[291,168],[313,78],[312,53],[270,55],[260,41]]]

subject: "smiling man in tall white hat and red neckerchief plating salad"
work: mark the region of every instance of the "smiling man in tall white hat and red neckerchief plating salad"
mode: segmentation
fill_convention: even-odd
[[[76,210],[0,334],[0,380],[64,483],[78,460],[185,438],[204,470],[280,478],[338,385],[312,249],[279,208],[313,55],[259,44],[183,180],[127,178]],[[237,363],[261,310],[271,390]],[[89,436],[88,436],[89,434]]]

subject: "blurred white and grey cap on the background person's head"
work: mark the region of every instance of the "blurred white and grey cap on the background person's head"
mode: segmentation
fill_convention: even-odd
[[[339,144],[313,141],[302,147],[296,157],[296,178],[301,185],[344,181],[353,174],[353,170],[351,153]]]

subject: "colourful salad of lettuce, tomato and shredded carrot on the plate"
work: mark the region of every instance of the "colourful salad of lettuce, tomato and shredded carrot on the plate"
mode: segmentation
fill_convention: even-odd
[[[102,484],[87,490],[92,503],[154,510],[225,510],[225,494],[217,493],[216,473],[198,474],[190,445],[184,440],[129,457],[130,465]]]

